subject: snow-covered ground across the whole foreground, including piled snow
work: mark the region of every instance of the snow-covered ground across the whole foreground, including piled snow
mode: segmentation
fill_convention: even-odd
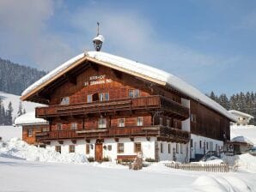
[[[114,163],[88,163],[82,156],[70,161],[72,154],[8,141],[10,133],[21,136],[18,128],[0,127],[0,191],[256,191],[256,158],[248,154],[240,156],[236,172],[174,170],[162,162],[130,171]]]

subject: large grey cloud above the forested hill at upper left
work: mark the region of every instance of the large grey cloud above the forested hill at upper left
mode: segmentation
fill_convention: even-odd
[[[51,33],[47,21],[54,15],[52,0],[0,1],[2,57],[16,58],[40,69],[52,69],[73,54],[61,37]]]

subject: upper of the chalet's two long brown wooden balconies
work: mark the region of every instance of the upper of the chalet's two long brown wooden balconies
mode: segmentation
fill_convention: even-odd
[[[70,105],[50,105],[37,107],[35,116],[40,118],[70,115],[84,115],[101,112],[157,110],[173,114],[184,120],[189,117],[189,109],[179,103],[160,95],[140,97],[134,99],[115,99],[93,103],[78,103]]]

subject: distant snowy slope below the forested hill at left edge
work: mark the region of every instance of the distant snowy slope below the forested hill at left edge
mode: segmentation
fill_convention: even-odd
[[[3,99],[3,105],[4,105],[5,109],[7,109],[8,105],[9,105],[9,101],[11,101],[12,107],[14,109],[14,111],[13,111],[14,118],[16,117],[18,109],[19,109],[19,105],[20,105],[20,101],[21,101],[20,97],[21,96],[19,96],[19,95],[0,92],[0,98]],[[43,106],[40,104],[36,104],[33,102],[27,102],[27,101],[22,101],[21,103],[22,103],[23,109],[25,109],[27,112],[34,111],[34,108],[37,106]]]

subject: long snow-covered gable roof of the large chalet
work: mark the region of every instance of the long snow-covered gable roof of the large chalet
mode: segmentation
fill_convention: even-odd
[[[78,62],[82,58],[84,58],[84,60],[99,63],[113,69],[118,69],[127,74],[136,75],[146,80],[154,81],[155,83],[161,84],[163,86],[168,85],[170,87],[173,87],[180,93],[186,94],[192,99],[195,99],[198,102],[209,106],[211,109],[218,111],[223,116],[228,117],[230,120],[236,122],[236,117],[232,115],[229,111],[225,110],[214,100],[204,95],[204,93],[199,92],[198,89],[187,84],[185,81],[182,81],[180,78],[169,74],[168,72],[161,69],[155,69],[153,67],[149,67],[149,65],[137,63],[135,61],[131,61],[130,59],[114,56],[102,51],[88,51],[85,54],[82,53],[74,58],[71,58],[66,63],[60,65],[57,69],[52,70],[52,72],[42,77],[39,81],[36,81],[30,87],[27,87],[27,89],[21,94],[21,98],[28,93],[32,93],[37,87],[43,87],[47,83],[47,81],[51,80],[58,74],[61,74],[66,69],[72,67],[73,63]]]

